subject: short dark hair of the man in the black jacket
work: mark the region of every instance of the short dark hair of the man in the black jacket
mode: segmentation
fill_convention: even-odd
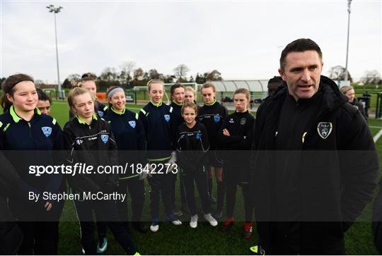
[[[312,39],[300,38],[296,39],[293,42],[289,43],[284,50],[282,50],[282,55],[280,57],[280,69],[284,71],[285,67],[285,58],[290,52],[301,52],[301,51],[317,51],[320,60],[323,59],[323,52],[316,42]]]

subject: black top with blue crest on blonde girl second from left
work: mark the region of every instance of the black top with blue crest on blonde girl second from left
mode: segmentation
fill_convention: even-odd
[[[86,163],[93,166],[117,166],[117,143],[110,126],[103,119],[93,115],[90,126],[87,123],[72,118],[65,126],[64,147],[68,150],[66,160],[69,165]],[[107,191],[115,188],[118,181],[117,173],[76,173],[68,176],[69,185],[79,192]]]

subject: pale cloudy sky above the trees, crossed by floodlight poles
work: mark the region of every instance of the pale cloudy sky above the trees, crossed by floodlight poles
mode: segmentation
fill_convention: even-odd
[[[4,1],[1,0],[0,77],[28,73],[57,80],[57,14],[61,80],[71,73],[119,68],[134,61],[172,74],[217,69],[224,79],[277,75],[282,49],[300,37],[316,41],[324,68],[345,66],[347,0],[339,1]],[[381,73],[381,0],[352,1],[349,72]]]

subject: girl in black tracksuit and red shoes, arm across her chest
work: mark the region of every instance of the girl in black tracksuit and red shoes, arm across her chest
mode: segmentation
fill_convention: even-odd
[[[236,111],[228,115],[218,133],[221,151],[219,157],[224,161],[224,181],[226,182],[227,219],[221,231],[227,231],[233,224],[233,208],[236,199],[236,186],[241,185],[244,196],[245,225],[243,237],[252,235],[252,212],[249,195],[250,145],[255,118],[248,111],[249,92],[238,89],[233,94]]]

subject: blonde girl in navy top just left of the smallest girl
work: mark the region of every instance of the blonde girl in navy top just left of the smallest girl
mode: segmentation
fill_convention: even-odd
[[[164,84],[161,80],[150,80],[147,83],[147,95],[150,102],[139,112],[139,118],[144,124],[146,133],[146,150],[149,161],[148,172],[150,191],[150,209],[152,224],[150,230],[153,232],[159,229],[159,199],[162,197],[165,207],[166,219],[175,226],[180,226],[182,222],[173,214],[171,203],[171,184],[173,174],[168,173],[178,171],[175,165],[176,157],[173,151],[171,127],[173,108],[163,104]],[[175,166],[173,170],[167,169],[165,164]]]

